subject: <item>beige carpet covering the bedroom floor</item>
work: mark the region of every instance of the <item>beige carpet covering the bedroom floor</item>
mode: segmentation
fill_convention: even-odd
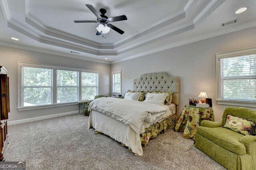
[[[194,141],[168,129],[135,156],[103,134],[87,130],[88,117],[68,115],[8,126],[6,161],[26,161],[27,170],[222,170],[194,147]]]

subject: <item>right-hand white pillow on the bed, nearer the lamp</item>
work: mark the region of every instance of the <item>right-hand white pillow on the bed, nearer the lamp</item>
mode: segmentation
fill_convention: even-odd
[[[144,102],[163,106],[167,96],[166,93],[147,93]]]

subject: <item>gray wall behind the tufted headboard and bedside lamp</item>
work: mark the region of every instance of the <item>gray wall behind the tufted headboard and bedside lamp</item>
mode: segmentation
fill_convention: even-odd
[[[216,53],[256,47],[256,27],[220,35],[175,47],[144,57],[111,65],[111,70],[122,70],[122,94],[132,90],[132,82],[141,74],[167,72],[180,77],[179,113],[188,98],[197,98],[201,91],[212,98],[216,120],[220,120],[226,105],[216,102]],[[255,109],[252,108],[252,109]]]

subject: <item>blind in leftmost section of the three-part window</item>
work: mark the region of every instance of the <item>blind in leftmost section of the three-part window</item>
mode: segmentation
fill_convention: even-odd
[[[22,67],[22,106],[52,104],[52,69]]]

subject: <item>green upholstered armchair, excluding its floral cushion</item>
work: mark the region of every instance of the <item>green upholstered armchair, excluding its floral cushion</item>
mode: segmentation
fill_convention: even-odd
[[[256,128],[254,135],[242,135],[222,127],[226,114],[256,122],[256,110],[244,107],[227,107],[222,120],[204,120],[197,128],[195,147],[202,150],[228,170],[256,170]]]

